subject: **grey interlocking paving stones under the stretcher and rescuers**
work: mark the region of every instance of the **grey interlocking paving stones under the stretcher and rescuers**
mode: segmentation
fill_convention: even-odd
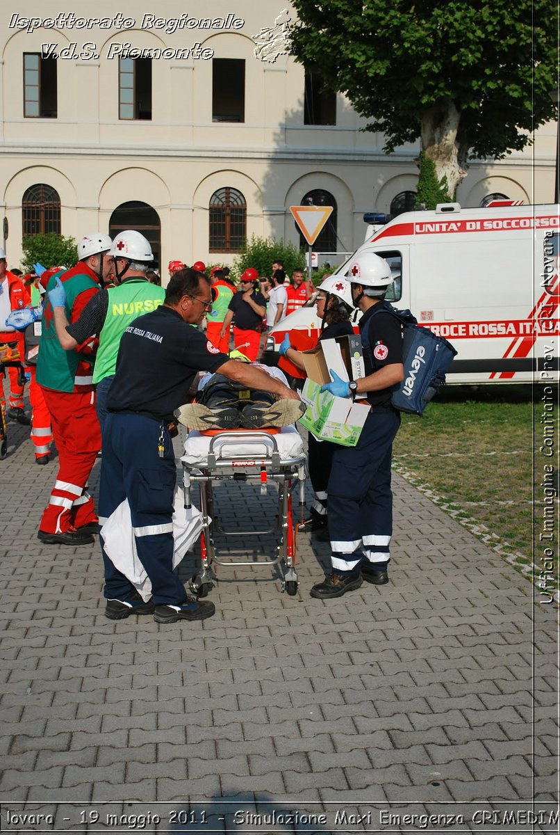
[[[212,619],[158,625],[103,616],[97,542],[37,541],[56,470],[10,424],[2,831],[557,831],[557,609],[402,478],[390,584],[313,600],[328,544],[303,533],[295,597],[220,567]],[[215,495],[226,525],[276,512]]]

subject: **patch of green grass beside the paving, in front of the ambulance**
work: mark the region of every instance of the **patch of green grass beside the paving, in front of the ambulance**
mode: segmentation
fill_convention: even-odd
[[[423,417],[403,415],[394,467],[522,569],[535,556],[533,514],[542,528],[542,463],[555,465],[558,487],[558,409],[552,458],[538,453],[541,415],[530,386],[448,387]]]

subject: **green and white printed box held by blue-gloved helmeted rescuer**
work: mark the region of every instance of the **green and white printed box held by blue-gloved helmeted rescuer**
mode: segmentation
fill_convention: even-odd
[[[307,408],[299,423],[316,438],[340,443],[343,447],[355,447],[366,423],[369,406],[354,403],[349,397],[334,397],[331,392],[322,394],[320,389],[320,383],[305,381],[302,400]]]

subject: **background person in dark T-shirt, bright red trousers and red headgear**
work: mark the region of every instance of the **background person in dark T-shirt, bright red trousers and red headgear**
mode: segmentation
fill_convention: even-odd
[[[239,351],[243,351],[251,362],[255,362],[258,357],[261,334],[266,328],[263,318],[267,311],[267,300],[263,293],[255,290],[257,280],[258,271],[253,269],[252,266],[248,266],[239,279],[241,290],[233,293],[232,301],[229,302],[228,312],[220,331],[220,337],[223,337],[228,331],[231,321],[235,318],[233,345]]]

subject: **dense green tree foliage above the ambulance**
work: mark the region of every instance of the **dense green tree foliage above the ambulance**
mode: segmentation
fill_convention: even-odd
[[[469,156],[501,159],[555,116],[558,20],[549,0],[293,5],[296,60],[371,119],[367,129],[385,135],[388,153],[421,136],[428,150],[427,125],[437,134],[452,114],[447,139],[460,166]]]

